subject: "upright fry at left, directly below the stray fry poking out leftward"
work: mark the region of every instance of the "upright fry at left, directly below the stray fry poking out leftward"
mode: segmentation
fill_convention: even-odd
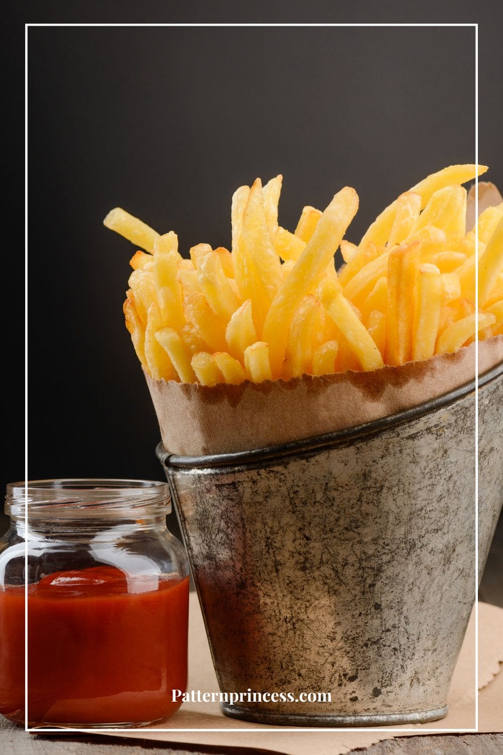
[[[161,318],[172,328],[182,328],[185,317],[182,310],[182,294],[178,282],[178,239],[171,231],[159,236],[154,244],[154,282]]]

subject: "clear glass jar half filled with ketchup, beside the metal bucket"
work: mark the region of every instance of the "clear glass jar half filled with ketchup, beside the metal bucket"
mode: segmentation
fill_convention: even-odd
[[[164,482],[8,485],[0,713],[29,726],[90,728],[142,726],[177,710],[172,690],[185,692],[187,682],[189,569],[167,530],[169,512]]]

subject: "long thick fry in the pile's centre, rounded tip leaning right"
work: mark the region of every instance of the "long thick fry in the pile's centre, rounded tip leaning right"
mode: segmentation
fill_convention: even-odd
[[[317,223],[314,236],[271,304],[265,319],[263,338],[269,344],[269,359],[274,377],[281,372],[293,313],[305,294],[321,281],[357,208],[357,193],[349,186],[334,196]]]

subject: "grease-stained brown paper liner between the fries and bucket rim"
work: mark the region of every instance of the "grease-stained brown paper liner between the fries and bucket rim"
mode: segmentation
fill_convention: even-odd
[[[503,362],[503,336],[479,343],[479,374]],[[475,376],[475,344],[400,367],[240,385],[155,381],[164,448],[201,456],[250,451],[343,430],[442,396]]]

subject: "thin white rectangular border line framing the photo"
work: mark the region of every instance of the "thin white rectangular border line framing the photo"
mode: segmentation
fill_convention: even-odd
[[[457,27],[468,26],[475,29],[475,164],[479,164],[479,150],[478,150],[478,132],[479,132],[479,113],[478,113],[478,23],[25,23],[25,504],[28,495],[27,481],[28,481],[28,29],[31,27],[40,26],[171,26],[171,27],[233,27],[233,26],[296,26],[296,27],[310,27],[310,26],[324,26],[324,27],[400,27],[400,26],[419,26],[419,27]],[[478,174],[475,177],[475,217],[478,216],[478,196],[479,196],[479,179]],[[476,248],[478,246],[478,227],[475,223],[475,243]],[[475,311],[478,312],[478,266],[475,266]],[[478,701],[478,378],[479,378],[479,365],[478,365],[478,331],[475,334],[475,728],[474,729],[400,729],[392,728],[388,726],[351,726],[341,728],[325,728],[325,727],[303,727],[296,726],[294,728],[287,728],[286,726],[278,726],[277,729],[270,729],[268,726],[264,726],[263,729],[158,729],[150,727],[142,727],[139,729],[109,729],[109,728],[94,728],[94,729],[71,729],[71,728],[44,728],[37,729],[28,726],[27,713],[28,713],[28,589],[27,581],[25,582],[25,732],[39,732],[39,733],[58,733],[62,732],[76,732],[78,734],[111,734],[112,732],[142,732],[148,738],[148,732],[393,732],[403,733],[409,736],[422,735],[423,733],[434,734],[449,734],[453,733],[477,733],[478,732],[478,718],[479,718],[479,701]],[[25,527],[28,531],[28,507],[25,505]],[[28,574],[28,541],[25,540],[25,574]],[[409,724],[409,726],[416,726],[415,724]],[[392,737],[390,737],[391,739]],[[182,741],[175,742],[175,744],[184,744]],[[192,744],[192,743],[189,743]],[[202,745],[201,745],[202,746]]]

